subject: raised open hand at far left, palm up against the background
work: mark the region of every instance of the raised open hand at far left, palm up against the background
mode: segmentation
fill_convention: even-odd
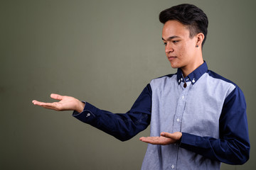
[[[49,108],[55,111],[78,111],[82,112],[85,107],[85,103],[82,103],[76,98],[70,96],[60,96],[58,94],[50,94],[51,98],[58,100],[58,102],[44,103],[41,101],[33,100],[34,105],[41,106],[43,108]]]

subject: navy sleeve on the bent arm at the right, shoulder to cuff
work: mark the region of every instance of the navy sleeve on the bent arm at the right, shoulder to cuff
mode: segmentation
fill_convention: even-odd
[[[244,164],[249,159],[245,97],[238,86],[225,98],[219,120],[220,139],[182,133],[181,145],[206,158],[226,164]]]

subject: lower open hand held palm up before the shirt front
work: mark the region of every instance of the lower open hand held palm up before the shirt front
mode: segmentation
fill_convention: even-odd
[[[161,132],[160,137],[141,137],[139,140],[153,145],[170,145],[181,140],[181,132]]]

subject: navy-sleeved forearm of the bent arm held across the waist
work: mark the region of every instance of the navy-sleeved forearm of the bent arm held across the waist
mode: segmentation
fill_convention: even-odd
[[[249,159],[250,145],[237,139],[215,139],[183,132],[180,147],[203,157],[226,164],[244,164]]]

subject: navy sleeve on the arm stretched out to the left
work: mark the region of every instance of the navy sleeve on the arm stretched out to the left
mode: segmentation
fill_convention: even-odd
[[[150,124],[151,94],[151,86],[148,84],[127,113],[111,113],[85,103],[82,113],[74,111],[73,116],[121,141],[129,140]]]

